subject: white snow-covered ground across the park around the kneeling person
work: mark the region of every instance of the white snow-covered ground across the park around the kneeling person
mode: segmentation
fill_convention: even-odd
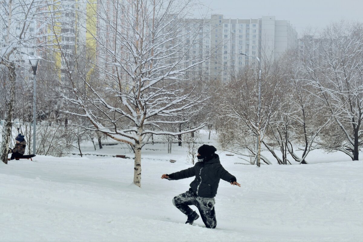
[[[0,241],[363,241],[362,161],[314,151],[308,161],[317,164],[257,168],[217,151],[242,186],[221,180],[217,228],[207,229],[200,218],[185,225],[172,205],[192,179],[160,176],[191,164],[187,148],[167,154],[166,146],[143,148],[141,189],[131,184],[132,159],[37,156],[1,164]],[[87,145],[83,153],[129,156],[122,147]]]

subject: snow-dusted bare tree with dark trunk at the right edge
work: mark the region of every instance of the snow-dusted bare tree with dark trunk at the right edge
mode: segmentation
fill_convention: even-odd
[[[314,87],[338,127],[326,130],[318,143],[358,160],[363,147],[363,25],[331,24],[305,45],[300,80]]]

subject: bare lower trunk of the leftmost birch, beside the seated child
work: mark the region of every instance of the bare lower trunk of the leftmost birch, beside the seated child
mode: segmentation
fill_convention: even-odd
[[[1,143],[1,160],[8,164],[8,153],[9,153],[9,143],[11,136],[11,128],[12,128],[12,117],[13,117],[13,104],[15,99],[15,65],[14,63],[9,64],[9,84],[10,84],[10,95],[9,99],[5,99],[5,107],[7,110],[5,111],[4,117],[4,126],[3,126],[3,141]]]

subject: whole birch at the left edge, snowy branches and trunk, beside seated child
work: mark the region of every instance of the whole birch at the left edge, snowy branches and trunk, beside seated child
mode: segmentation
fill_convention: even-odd
[[[34,47],[36,37],[36,18],[44,7],[37,0],[4,0],[0,2],[0,65],[7,69],[8,77],[5,115],[1,143],[1,160],[7,164],[8,148],[12,128],[13,105],[17,68],[24,66],[24,58],[29,48]]]

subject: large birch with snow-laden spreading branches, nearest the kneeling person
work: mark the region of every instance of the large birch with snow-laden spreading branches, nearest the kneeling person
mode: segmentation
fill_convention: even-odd
[[[192,81],[193,68],[209,58],[208,52],[190,53],[204,33],[203,21],[185,20],[194,7],[192,1],[174,0],[99,2],[97,34],[83,26],[97,44],[97,60],[90,61],[95,63],[93,77],[98,81],[79,75],[85,92],[68,78],[68,92],[61,93],[63,100],[77,107],[62,112],[87,118],[92,130],[131,145],[135,153],[133,182],[140,187],[144,140],[150,135],[177,136],[204,126],[178,132],[164,129],[165,124],[188,122],[191,108],[200,108],[207,98],[195,88],[183,90],[179,85]]]

